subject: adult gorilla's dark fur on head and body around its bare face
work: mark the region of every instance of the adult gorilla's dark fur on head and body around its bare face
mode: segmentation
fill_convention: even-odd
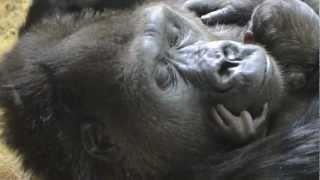
[[[27,169],[46,180],[318,178],[318,92],[308,95],[308,108],[294,123],[230,149],[208,140],[202,124],[190,123],[205,118],[202,104],[164,105],[146,91],[145,66],[127,57],[137,31],[131,27],[140,23],[131,10],[135,2],[65,2],[35,1],[20,40],[0,65],[4,137]],[[87,6],[120,10],[84,11]],[[83,131],[91,125],[98,134],[93,141],[110,159],[84,148]]]

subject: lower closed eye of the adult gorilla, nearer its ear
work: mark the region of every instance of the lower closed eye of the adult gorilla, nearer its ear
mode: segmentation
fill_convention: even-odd
[[[176,75],[168,64],[159,64],[155,70],[154,78],[158,87],[162,90],[166,90],[176,82]]]

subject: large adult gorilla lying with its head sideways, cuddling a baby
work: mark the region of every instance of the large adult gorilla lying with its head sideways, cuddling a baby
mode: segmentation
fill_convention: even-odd
[[[318,16],[298,1],[288,3],[295,8],[281,9],[293,17],[287,25],[297,28],[304,17],[301,28],[307,31],[288,38],[305,39],[318,28]],[[77,7],[72,9],[81,11]],[[218,103],[255,116],[268,102],[273,116],[281,114],[279,67],[259,46],[223,40],[228,33],[234,38],[231,29],[220,28],[219,36],[174,5],[75,15],[60,8],[32,12],[41,18],[28,22],[39,23],[24,27],[0,66],[0,103],[7,143],[40,177],[318,177],[317,93],[308,98],[307,110],[286,117],[297,123],[246,147],[221,143],[219,131],[209,128],[210,109]],[[314,76],[306,76],[307,82]]]

